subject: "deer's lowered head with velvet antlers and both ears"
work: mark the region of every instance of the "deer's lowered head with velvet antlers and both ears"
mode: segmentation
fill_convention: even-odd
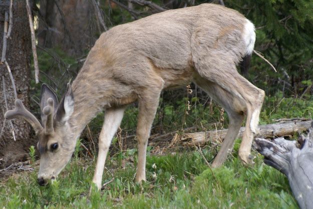
[[[74,97],[68,84],[65,96],[60,104],[56,94],[43,84],[41,89],[41,120],[28,111],[22,101],[15,101],[16,108],[6,112],[7,119],[23,117],[34,128],[39,137],[37,148],[40,152],[38,183],[47,185],[54,180],[69,162],[74,152],[76,140],[73,140],[73,127],[68,122],[74,111]]]

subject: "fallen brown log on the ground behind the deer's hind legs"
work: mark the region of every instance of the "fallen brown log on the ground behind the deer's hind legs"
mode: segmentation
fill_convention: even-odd
[[[256,137],[272,138],[285,135],[293,135],[295,132],[304,131],[310,127],[312,120],[289,120],[274,124],[259,125],[259,133]],[[193,133],[183,133],[180,140],[184,145],[193,146],[203,144],[208,141],[222,140],[228,129],[209,130]],[[242,137],[245,127],[241,127],[237,137]],[[176,139],[177,140],[177,139]]]

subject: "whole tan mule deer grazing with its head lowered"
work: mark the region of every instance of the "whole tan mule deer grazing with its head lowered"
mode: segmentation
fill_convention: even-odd
[[[250,163],[264,91],[242,77],[236,64],[249,57],[254,25],[235,10],[215,4],[167,10],[115,26],[104,32],[58,104],[45,84],[41,92],[42,124],[20,100],[6,118],[22,116],[39,136],[38,182],[46,185],[70,160],[87,123],[105,110],[93,182],[101,188],[108,149],[127,104],[139,102],[136,181],[146,179],[146,149],[163,89],[190,81],[203,88],[228,113],[230,123],[212,166],[221,165],[233,148],[246,114],[239,157]]]

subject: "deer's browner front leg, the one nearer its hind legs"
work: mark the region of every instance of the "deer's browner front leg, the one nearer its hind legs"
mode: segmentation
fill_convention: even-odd
[[[139,100],[139,115],[137,124],[138,164],[136,182],[146,180],[146,152],[152,122],[159,104],[160,91],[142,96]]]

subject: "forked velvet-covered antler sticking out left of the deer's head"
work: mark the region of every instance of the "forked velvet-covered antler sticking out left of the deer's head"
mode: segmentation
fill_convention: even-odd
[[[13,119],[18,116],[26,119],[33,126],[36,134],[38,134],[43,129],[43,126],[40,124],[39,120],[25,108],[23,102],[20,99],[15,100],[15,109],[9,110],[5,114],[7,119]]]

